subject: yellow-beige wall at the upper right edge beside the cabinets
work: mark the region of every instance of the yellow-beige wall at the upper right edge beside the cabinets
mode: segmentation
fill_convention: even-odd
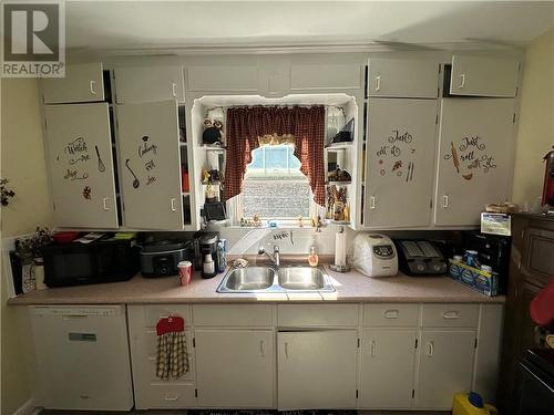
[[[542,157],[553,145],[554,29],[535,39],[525,53],[512,190],[516,204],[532,205],[542,195]]]

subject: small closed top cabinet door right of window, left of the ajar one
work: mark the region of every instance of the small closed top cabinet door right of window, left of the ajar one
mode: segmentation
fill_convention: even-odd
[[[369,59],[369,96],[435,98],[438,91],[439,62],[437,61]]]

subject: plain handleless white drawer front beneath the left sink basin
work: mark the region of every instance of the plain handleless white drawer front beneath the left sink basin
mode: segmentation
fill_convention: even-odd
[[[248,326],[273,325],[271,305],[268,304],[201,304],[193,305],[195,326]]]

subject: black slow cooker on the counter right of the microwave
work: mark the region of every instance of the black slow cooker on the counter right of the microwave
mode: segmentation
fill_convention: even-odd
[[[195,261],[194,241],[157,240],[141,249],[141,273],[144,277],[166,277],[178,273],[177,263]]]

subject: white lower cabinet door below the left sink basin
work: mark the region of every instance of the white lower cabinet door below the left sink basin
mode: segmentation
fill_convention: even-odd
[[[196,330],[195,339],[198,406],[274,406],[273,331]]]

